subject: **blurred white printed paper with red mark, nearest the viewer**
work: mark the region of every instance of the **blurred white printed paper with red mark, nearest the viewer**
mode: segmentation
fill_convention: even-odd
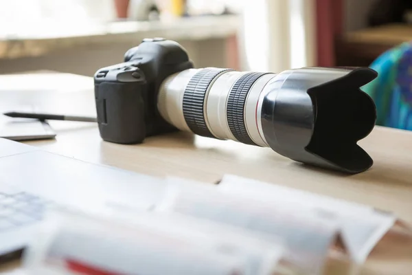
[[[253,264],[259,263],[257,251],[242,251],[252,245],[222,242],[212,235],[196,239],[199,235],[190,229],[185,234],[160,230],[159,225],[171,225],[168,221],[139,226],[67,211],[58,215],[49,218],[24,257],[33,274],[76,274],[69,269],[73,264],[119,274],[271,274],[253,270]]]

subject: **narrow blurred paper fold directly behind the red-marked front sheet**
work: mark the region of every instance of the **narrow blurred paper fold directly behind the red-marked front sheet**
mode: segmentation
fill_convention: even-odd
[[[139,228],[191,240],[209,250],[230,251],[247,261],[248,274],[272,274],[284,254],[281,241],[271,235],[255,234],[242,228],[186,215],[140,212],[133,215],[119,214],[117,219]]]

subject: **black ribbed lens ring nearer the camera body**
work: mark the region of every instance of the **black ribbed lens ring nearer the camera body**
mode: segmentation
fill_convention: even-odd
[[[209,85],[216,76],[225,71],[231,71],[231,69],[205,68],[192,76],[187,83],[185,94],[183,94],[183,116],[187,126],[196,135],[214,137],[207,128],[203,107]]]

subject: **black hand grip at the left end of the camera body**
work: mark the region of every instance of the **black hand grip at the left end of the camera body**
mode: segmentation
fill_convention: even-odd
[[[95,85],[95,102],[102,139],[136,144],[146,137],[145,85],[103,82]]]

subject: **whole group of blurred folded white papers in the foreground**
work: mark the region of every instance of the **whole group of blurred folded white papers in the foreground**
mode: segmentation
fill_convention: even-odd
[[[393,226],[368,206],[226,175],[168,177],[152,208],[56,209],[25,253],[28,274],[324,274],[360,265]]]

